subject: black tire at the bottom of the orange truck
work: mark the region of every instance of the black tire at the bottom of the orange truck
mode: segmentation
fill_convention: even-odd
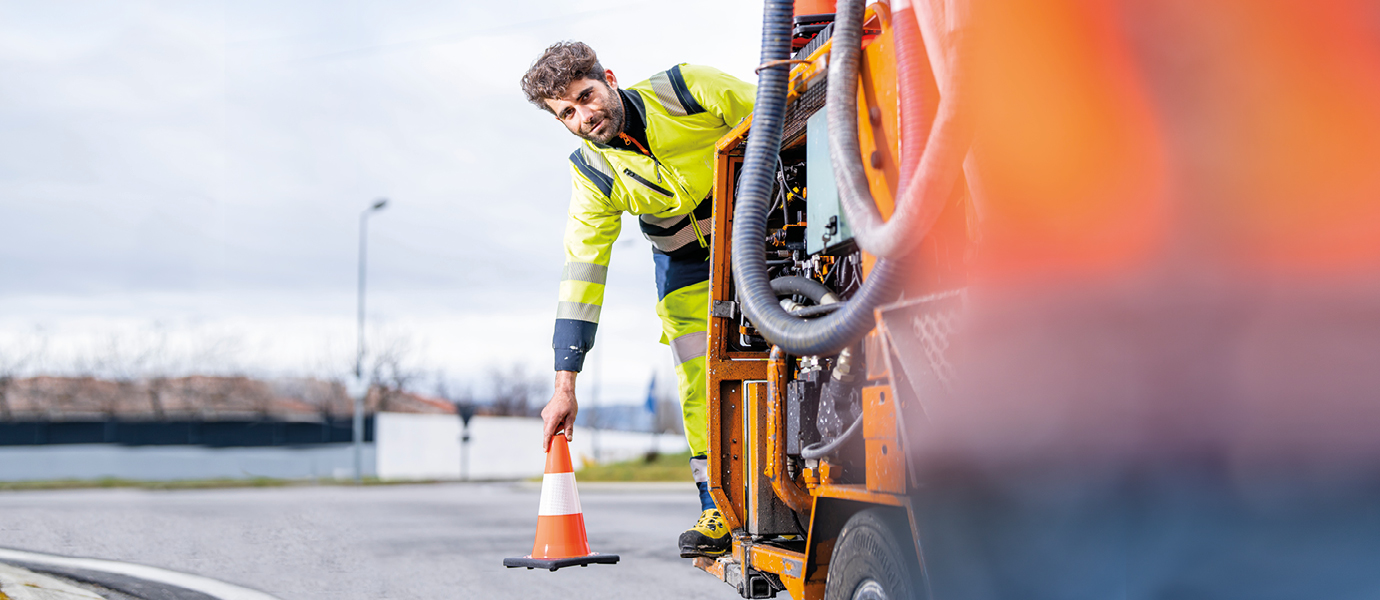
[[[867,509],[839,532],[824,600],[925,600],[929,593],[904,514]]]

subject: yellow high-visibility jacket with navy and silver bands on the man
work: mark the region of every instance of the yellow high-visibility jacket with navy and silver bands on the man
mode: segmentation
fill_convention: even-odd
[[[558,371],[580,371],[593,348],[624,212],[640,215],[657,254],[707,247],[713,143],[752,113],[756,87],[708,66],[676,65],[618,95],[642,117],[651,156],[591,141],[570,154],[566,269],[552,339]]]

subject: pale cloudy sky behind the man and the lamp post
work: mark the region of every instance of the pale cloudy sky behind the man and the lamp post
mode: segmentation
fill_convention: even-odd
[[[523,72],[574,39],[622,81],[753,80],[759,34],[741,0],[0,0],[0,352],[338,372],[386,197],[368,339],[461,385],[549,372],[577,139]],[[591,371],[609,403],[669,378],[650,254],[627,219],[586,397]]]

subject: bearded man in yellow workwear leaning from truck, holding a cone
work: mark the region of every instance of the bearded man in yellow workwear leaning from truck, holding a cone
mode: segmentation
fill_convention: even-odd
[[[676,65],[620,88],[595,51],[562,41],[522,79],[527,99],[580,138],[570,154],[574,193],[566,225],[566,269],[556,309],[556,392],[541,411],[542,447],[571,437],[575,374],[593,348],[609,254],[624,212],[639,215],[657,272],[662,343],[676,361],[690,470],[700,487],[698,523],[680,535],[680,556],[719,556],[730,539],[709,498],[708,348],[713,143],[752,112],[755,87],[720,70]]]

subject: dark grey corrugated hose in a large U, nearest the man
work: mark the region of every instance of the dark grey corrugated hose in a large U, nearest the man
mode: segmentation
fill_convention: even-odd
[[[767,0],[765,4],[762,63],[791,58],[792,1]],[[834,354],[872,330],[872,309],[896,298],[900,265],[878,261],[847,305],[827,317],[799,319],[777,302],[767,276],[766,232],[788,77],[789,66],[782,63],[762,69],[758,79],[752,132],[733,211],[733,280],[738,286],[744,314],[769,342],[796,356]]]

